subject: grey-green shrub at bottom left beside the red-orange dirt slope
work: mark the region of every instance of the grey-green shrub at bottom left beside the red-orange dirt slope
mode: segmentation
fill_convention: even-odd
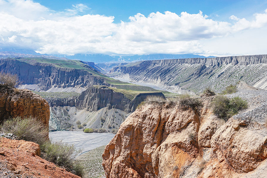
[[[46,142],[40,145],[40,148],[43,159],[55,163],[69,172],[82,176],[83,166],[75,162],[75,158],[81,153],[81,150],[77,151],[74,145],[61,142]]]

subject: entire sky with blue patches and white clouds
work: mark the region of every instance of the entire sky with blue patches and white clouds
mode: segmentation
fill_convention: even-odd
[[[267,0],[0,0],[0,47],[46,54],[266,54]]]

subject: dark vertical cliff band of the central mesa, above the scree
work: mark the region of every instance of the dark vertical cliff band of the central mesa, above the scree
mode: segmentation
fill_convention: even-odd
[[[83,91],[80,96],[71,98],[46,98],[50,106],[70,106],[77,109],[86,109],[88,111],[97,111],[101,108],[120,109],[126,113],[133,112],[139,103],[144,101],[147,96],[157,95],[164,97],[161,92],[140,93],[132,100],[127,98],[123,93],[101,86],[89,87]]]

